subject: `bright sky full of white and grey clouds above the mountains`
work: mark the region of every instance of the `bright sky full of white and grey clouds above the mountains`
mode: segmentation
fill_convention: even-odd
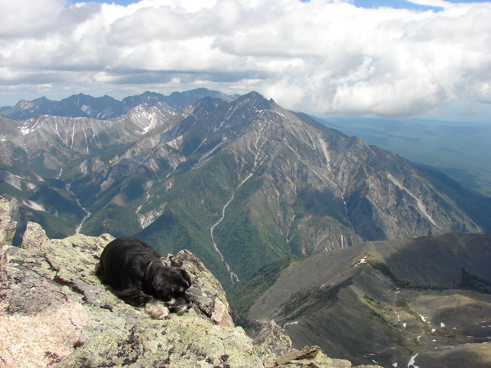
[[[0,106],[197,87],[491,123],[491,3],[0,0]]]

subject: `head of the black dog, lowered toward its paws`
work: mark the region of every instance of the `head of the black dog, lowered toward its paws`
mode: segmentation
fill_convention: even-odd
[[[152,281],[158,299],[164,300],[169,311],[182,315],[194,301],[186,290],[191,287],[191,278],[186,270],[164,266]]]

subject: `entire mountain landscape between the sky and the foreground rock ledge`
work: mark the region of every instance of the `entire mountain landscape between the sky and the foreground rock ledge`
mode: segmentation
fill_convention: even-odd
[[[1,112],[14,245],[34,221],[189,249],[250,333],[274,319],[359,364],[487,367],[468,357],[490,346],[490,197],[256,92],[46,101]]]

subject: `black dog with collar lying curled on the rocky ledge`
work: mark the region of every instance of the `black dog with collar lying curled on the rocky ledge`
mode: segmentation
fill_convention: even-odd
[[[114,294],[135,307],[145,306],[153,318],[182,315],[191,308],[185,290],[191,279],[182,268],[160,262],[161,255],[134,237],[112,240],[101,254],[96,275],[114,289]]]

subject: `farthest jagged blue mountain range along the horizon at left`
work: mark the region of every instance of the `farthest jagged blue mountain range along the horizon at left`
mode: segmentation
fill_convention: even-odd
[[[52,115],[62,117],[86,117],[100,120],[117,118],[126,114],[133,107],[144,104],[154,106],[164,102],[176,111],[182,110],[193,100],[206,96],[233,101],[238,95],[227,96],[218,91],[210,91],[206,88],[197,88],[191,91],[173,92],[170,96],[161,93],[146,91],[141,95],[125,97],[118,101],[105,95],[92,97],[79,93],[61,101],[48,100],[40,97],[32,101],[21,100],[14,107],[3,106],[0,108],[0,116],[12,120],[26,120],[37,115]]]

